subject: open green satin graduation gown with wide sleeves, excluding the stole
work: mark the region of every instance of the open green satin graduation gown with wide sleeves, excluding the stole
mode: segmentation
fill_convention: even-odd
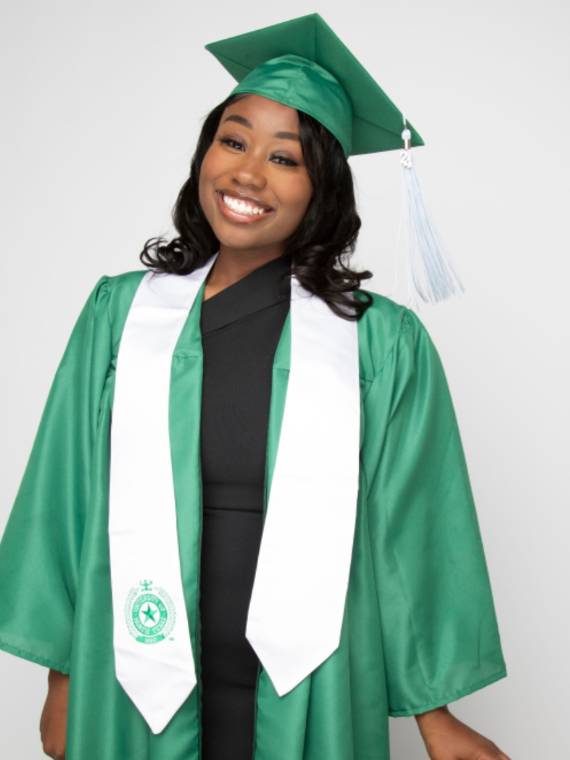
[[[145,272],[103,276],[91,292],[57,369],[0,543],[0,648],[71,675],[66,760],[200,758],[196,421],[203,285],[174,351],[169,413],[198,684],[166,728],[153,734],[114,672],[109,430],[121,332]],[[340,644],[282,697],[259,669],[255,760],[389,760],[389,716],[425,712],[507,675],[441,360],[413,311],[368,292],[373,303],[358,323],[359,494]],[[289,366],[290,315],[272,364],[264,506]]]

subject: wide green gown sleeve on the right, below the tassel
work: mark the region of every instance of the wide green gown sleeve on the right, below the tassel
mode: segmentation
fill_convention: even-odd
[[[507,675],[460,433],[438,352],[405,307],[367,396],[383,417],[369,483],[389,715]]]

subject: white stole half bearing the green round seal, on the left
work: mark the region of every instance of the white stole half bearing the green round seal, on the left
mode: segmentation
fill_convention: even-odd
[[[109,470],[115,672],[155,734],[196,685],[178,556],[170,369],[188,311],[216,258],[217,253],[184,277],[147,273],[131,303],[116,361]],[[151,467],[148,452],[153,453]],[[146,636],[145,628],[141,635],[135,627],[141,625],[135,599],[143,589],[147,600],[163,604],[166,625],[161,631],[161,618],[146,605],[159,636]],[[139,604],[144,612],[145,605]]]

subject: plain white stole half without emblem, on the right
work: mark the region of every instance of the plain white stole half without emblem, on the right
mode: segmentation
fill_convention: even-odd
[[[287,395],[245,630],[279,696],[338,646],[360,481],[357,323],[293,276],[288,326]]]

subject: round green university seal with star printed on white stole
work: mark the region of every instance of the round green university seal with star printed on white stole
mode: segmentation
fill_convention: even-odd
[[[174,628],[174,603],[163,588],[152,581],[133,586],[125,603],[125,617],[130,634],[141,644],[158,644]]]

